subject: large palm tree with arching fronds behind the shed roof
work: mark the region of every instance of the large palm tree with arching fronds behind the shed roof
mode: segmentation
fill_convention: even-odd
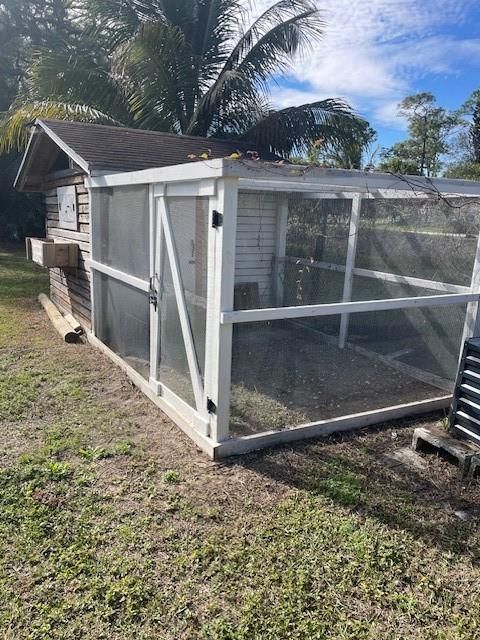
[[[40,50],[3,119],[0,150],[35,117],[241,138],[289,156],[364,126],[335,99],[274,110],[269,82],[322,34],[314,0],[278,0],[256,20],[242,0],[78,0],[78,37]]]

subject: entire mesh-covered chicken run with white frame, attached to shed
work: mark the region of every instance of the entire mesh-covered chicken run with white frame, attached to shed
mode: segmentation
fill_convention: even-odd
[[[480,184],[215,159],[87,187],[91,340],[212,457],[450,403]]]

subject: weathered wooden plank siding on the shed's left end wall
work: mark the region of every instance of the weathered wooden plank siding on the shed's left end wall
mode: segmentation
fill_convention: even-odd
[[[57,187],[75,185],[77,193],[77,231],[59,227]],[[76,242],[79,246],[78,266],[50,269],[50,297],[61,311],[71,313],[84,329],[91,328],[90,270],[90,209],[85,175],[55,178],[46,184],[47,237]]]

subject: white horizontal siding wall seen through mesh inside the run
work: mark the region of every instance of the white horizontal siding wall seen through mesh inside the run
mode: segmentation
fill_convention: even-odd
[[[274,193],[239,192],[235,284],[257,282],[262,305],[272,303],[277,219]]]

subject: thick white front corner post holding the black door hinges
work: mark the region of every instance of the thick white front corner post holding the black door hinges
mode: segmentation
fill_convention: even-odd
[[[238,180],[220,178],[217,195],[210,198],[208,215],[207,333],[205,395],[210,401],[210,437],[228,438],[233,326],[221,324],[224,311],[233,310]],[[222,216],[213,226],[214,212]]]

